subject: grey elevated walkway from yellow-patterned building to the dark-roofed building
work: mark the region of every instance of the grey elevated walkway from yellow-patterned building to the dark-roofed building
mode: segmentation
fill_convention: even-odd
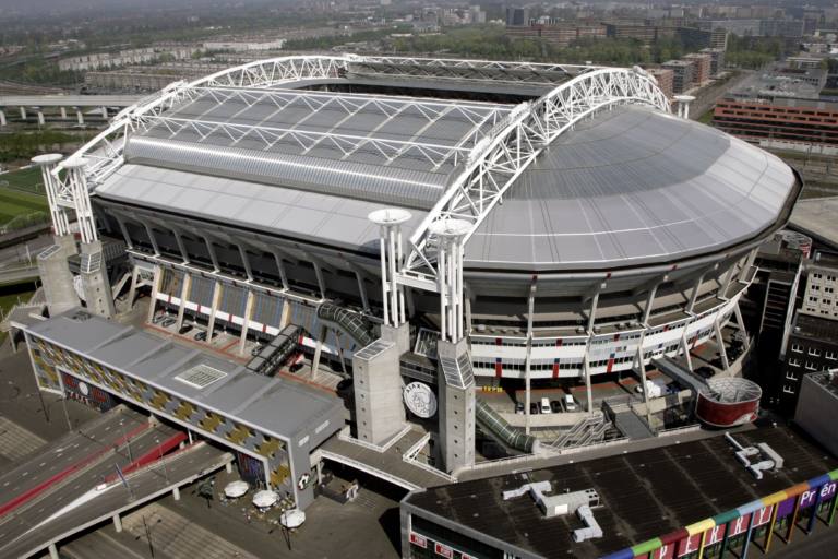
[[[410,491],[450,484],[454,479],[443,472],[406,460],[406,455],[411,454],[410,451],[416,450],[426,437],[421,432],[407,430],[384,447],[375,447],[340,433],[328,439],[312,454],[312,463],[316,463],[320,457],[331,460]]]

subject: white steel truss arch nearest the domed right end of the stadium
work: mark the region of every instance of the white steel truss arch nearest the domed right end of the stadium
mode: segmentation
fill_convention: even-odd
[[[465,169],[446,188],[410,237],[398,282],[438,292],[438,239],[431,224],[462,219],[470,227],[465,245],[515,179],[543,147],[576,122],[618,104],[642,104],[669,112],[657,82],[639,68],[601,68],[565,82],[536,102],[519,105],[471,150]]]

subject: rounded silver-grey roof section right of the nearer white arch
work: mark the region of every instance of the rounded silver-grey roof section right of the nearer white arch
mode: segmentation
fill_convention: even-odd
[[[602,111],[542,152],[466,246],[471,267],[611,269],[719,250],[774,225],[788,165],[638,106]]]

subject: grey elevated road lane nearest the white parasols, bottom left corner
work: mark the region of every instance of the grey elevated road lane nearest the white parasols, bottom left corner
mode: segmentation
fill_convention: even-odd
[[[48,512],[58,514],[51,520],[41,519],[38,524],[14,535],[0,536],[0,557],[29,557],[44,549],[52,542],[60,542],[72,534],[86,530],[111,518],[117,512],[124,512],[156,499],[171,490],[194,481],[199,477],[219,469],[232,455],[222,452],[204,442],[167,457],[165,471],[160,466],[147,467],[128,475],[131,490],[119,481],[110,484],[82,506],[65,512],[56,512],[53,507]],[[94,487],[94,486],[92,486]],[[46,516],[46,515],[45,515]]]

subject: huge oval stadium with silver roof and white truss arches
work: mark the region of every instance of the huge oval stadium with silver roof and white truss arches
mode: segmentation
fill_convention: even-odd
[[[710,338],[727,365],[756,247],[801,190],[777,157],[674,115],[638,68],[360,56],[172,84],[43,165],[82,275],[127,287],[97,245],[124,243],[149,322],[237,332],[242,354],[292,324],[313,368],[355,369],[356,396],[374,344],[395,344],[370,424],[404,423],[403,383],[445,384],[440,432],[466,432],[442,441],[463,449],[448,471],[474,460],[475,384],[526,390],[528,416],[539,383],[585,383],[590,409],[591,378]]]

